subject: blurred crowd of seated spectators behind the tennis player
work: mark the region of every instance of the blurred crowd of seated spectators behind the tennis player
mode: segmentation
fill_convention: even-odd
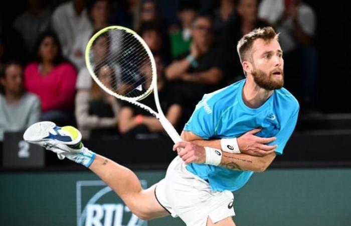
[[[245,78],[236,45],[258,27],[280,32],[285,87],[303,109],[313,108],[316,17],[303,1],[178,0],[172,4],[174,20],[166,19],[160,2],[73,0],[51,9],[43,0],[28,0],[11,28],[0,29],[0,141],[4,132],[38,121],[76,125],[84,139],[163,134],[148,112],[102,91],[89,75],[85,47],[110,25],[135,30],[153,52],[160,103],[178,131],[205,93]],[[93,45],[97,61],[103,43]],[[97,73],[111,70],[101,67]]]

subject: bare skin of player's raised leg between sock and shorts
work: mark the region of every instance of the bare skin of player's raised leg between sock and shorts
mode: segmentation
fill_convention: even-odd
[[[101,155],[96,155],[89,169],[110,186],[139,218],[148,220],[169,215],[155,197],[155,185],[143,190],[130,169]]]

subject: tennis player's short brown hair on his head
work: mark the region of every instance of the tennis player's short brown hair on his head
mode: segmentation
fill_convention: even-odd
[[[278,40],[279,34],[275,33],[272,27],[256,28],[250,33],[244,35],[238,42],[237,51],[240,57],[240,63],[249,59],[248,53],[252,49],[252,45],[256,39],[269,41],[272,39]]]

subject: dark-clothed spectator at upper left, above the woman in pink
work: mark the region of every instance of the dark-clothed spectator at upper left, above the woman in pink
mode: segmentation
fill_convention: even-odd
[[[27,10],[16,18],[14,28],[21,33],[30,56],[39,34],[49,28],[51,11],[44,7],[43,0],[27,0],[27,5]]]

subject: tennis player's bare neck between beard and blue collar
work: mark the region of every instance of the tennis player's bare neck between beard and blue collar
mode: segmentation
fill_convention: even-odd
[[[273,94],[273,90],[259,87],[253,78],[246,79],[242,92],[244,103],[251,108],[260,107]]]

